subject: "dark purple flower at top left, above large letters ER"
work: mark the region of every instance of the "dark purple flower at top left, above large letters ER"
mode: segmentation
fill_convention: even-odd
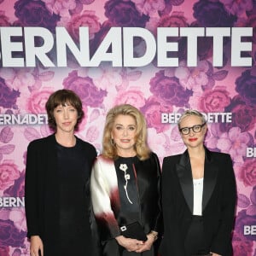
[[[14,8],[15,16],[22,26],[42,26],[54,32],[56,23],[60,20],[60,16],[51,15],[45,3],[40,0],[18,0]]]

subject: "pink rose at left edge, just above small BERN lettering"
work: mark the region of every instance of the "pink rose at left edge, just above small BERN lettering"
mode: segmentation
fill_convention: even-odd
[[[8,189],[18,177],[20,177],[20,172],[13,160],[3,160],[0,165],[0,190]]]

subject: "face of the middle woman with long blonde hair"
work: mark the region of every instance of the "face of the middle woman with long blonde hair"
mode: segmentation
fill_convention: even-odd
[[[136,154],[134,149],[136,131],[136,121],[131,115],[119,114],[114,119],[111,138],[119,156],[129,157]]]

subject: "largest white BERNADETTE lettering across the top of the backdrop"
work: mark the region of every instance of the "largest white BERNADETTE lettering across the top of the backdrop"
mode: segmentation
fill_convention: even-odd
[[[212,37],[213,67],[223,65],[224,37],[231,41],[231,66],[252,67],[253,27],[158,27],[157,35],[142,27],[111,27],[90,59],[88,27],[79,27],[79,42],[75,42],[65,27],[56,27],[55,35],[44,27],[1,27],[1,59],[3,67],[36,67],[40,61],[44,67],[67,67],[67,49],[81,67],[98,67],[102,61],[112,62],[113,67],[142,67],[156,55],[158,67],[178,67],[177,37],[187,38],[187,65],[197,66],[197,38]],[[15,37],[15,41],[12,40]],[[142,38],[145,52],[134,56],[134,38]],[[20,42],[16,38],[20,38]],[[247,41],[243,38],[247,38]],[[251,41],[249,41],[251,40]],[[25,45],[23,47],[23,43]],[[17,54],[25,55],[25,60]],[[49,55],[51,53],[51,55]],[[55,55],[53,55],[55,53]],[[56,63],[50,59],[55,58]]]

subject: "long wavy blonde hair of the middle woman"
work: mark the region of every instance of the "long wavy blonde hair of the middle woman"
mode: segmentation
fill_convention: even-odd
[[[140,160],[146,160],[149,157],[150,149],[147,143],[147,125],[143,114],[130,104],[122,104],[111,108],[106,117],[105,127],[103,131],[102,155],[108,159],[117,159],[117,148],[111,138],[113,131],[113,123],[119,115],[130,115],[136,122],[136,135],[134,149]]]

